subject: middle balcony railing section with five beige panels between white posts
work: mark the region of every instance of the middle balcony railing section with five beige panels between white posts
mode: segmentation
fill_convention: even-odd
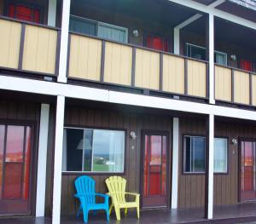
[[[77,33],[69,35],[68,78],[207,98],[207,61]]]

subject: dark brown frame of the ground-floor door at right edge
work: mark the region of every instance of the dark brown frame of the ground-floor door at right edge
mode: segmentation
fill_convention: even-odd
[[[256,138],[246,138],[246,137],[238,137],[238,203],[248,203],[248,202],[256,202],[256,198],[252,200],[242,200],[241,199],[241,141],[251,141],[256,143]],[[255,158],[256,163],[256,158]],[[256,193],[256,192],[255,192]]]

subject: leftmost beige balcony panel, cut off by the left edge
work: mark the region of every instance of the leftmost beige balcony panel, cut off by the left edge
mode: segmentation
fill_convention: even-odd
[[[0,20],[0,66],[18,68],[21,24]]]

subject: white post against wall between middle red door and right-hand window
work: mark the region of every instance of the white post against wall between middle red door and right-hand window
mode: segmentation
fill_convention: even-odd
[[[172,122],[172,209],[177,209],[179,119]]]

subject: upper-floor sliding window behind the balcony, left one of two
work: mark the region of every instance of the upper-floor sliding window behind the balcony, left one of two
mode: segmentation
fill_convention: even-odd
[[[91,36],[102,37],[121,43],[128,42],[128,29],[79,16],[70,16],[69,30]]]

